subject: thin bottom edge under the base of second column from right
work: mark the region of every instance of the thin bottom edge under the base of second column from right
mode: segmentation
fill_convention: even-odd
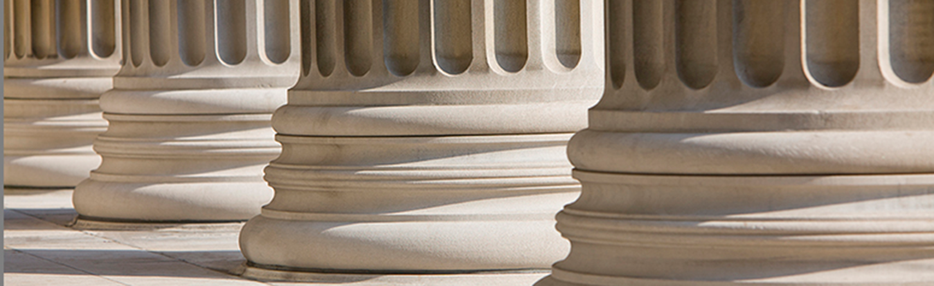
[[[234,270],[237,275],[262,281],[298,281],[340,283],[347,286],[375,285],[446,285],[446,286],[514,286],[530,285],[548,274],[547,269],[512,271],[469,271],[460,273],[340,273],[329,269],[290,270],[275,266],[244,263]]]

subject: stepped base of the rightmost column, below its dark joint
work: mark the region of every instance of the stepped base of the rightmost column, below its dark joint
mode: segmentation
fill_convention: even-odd
[[[582,196],[558,215],[572,251],[538,286],[934,279],[932,174],[574,177]]]

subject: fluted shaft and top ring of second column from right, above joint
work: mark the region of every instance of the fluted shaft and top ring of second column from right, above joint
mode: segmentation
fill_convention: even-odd
[[[593,15],[601,6],[500,2],[522,1],[303,2],[303,73],[276,130],[431,136],[586,127],[600,86]]]

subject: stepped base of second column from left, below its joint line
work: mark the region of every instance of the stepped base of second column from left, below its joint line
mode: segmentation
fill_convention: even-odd
[[[103,161],[73,197],[81,219],[244,221],[273,197],[261,177],[280,149],[270,115],[104,116]]]

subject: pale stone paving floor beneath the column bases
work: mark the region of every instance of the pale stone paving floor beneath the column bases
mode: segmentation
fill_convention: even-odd
[[[321,282],[239,277],[243,224],[78,230],[71,190],[4,191],[4,285],[531,285],[547,273],[327,277]],[[330,280],[330,281],[329,281]],[[482,279],[481,279],[482,280]]]

